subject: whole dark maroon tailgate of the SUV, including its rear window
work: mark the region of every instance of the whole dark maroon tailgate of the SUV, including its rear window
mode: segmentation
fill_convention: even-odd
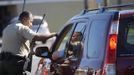
[[[117,46],[117,75],[134,75],[133,15],[120,19]]]

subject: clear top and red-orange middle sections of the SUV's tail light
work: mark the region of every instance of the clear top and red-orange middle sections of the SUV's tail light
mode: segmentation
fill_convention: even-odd
[[[119,21],[113,21],[109,33],[106,64],[115,64]]]

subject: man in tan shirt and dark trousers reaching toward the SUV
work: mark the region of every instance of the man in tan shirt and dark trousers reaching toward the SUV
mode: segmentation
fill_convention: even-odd
[[[2,50],[0,52],[0,75],[26,75],[24,66],[30,49],[30,42],[46,41],[56,36],[38,34],[30,29],[33,15],[23,11],[19,22],[8,25],[3,31]]]

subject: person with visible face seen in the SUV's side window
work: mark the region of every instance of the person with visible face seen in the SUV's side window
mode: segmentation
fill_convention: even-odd
[[[79,53],[82,50],[82,33],[81,32],[74,32],[71,41],[69,43],[69,47],[66,54],[66,59],[64,63],[70,63],[70,59],[79,58]]]

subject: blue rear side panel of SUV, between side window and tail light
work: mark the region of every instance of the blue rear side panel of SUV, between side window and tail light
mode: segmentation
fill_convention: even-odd
[[[97,13],[89,17],[84,43],[84,54],[79,68],[99,70],[102,68],[106,54],[108,33],[114,13]]]

